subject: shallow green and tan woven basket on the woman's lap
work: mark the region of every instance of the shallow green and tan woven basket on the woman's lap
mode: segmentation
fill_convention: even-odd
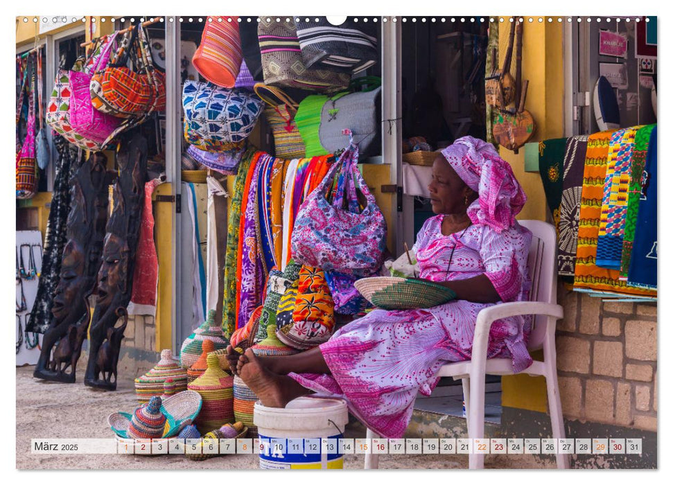
[[[374,276],[359,279],[354,284],[372,305],[384,310],[432,308],[455,299],[453,290],[419,279]]]

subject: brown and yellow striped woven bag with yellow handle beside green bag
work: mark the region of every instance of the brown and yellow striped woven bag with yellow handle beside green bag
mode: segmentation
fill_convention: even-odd
[[[281,89],[261,82],[255,85],[254,91],[266,103],[264,115],[273,132],[276,157],[304,158],[306,147],[295,123],[299,105]]]

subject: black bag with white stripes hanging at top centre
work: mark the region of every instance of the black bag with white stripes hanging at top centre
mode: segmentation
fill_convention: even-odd
[[[315,21],[317,20],[317,22]],[[334,26],[326,17],[297,22],[301,58],[306,67],[358,73],[378,59],[376,24],[347,19]]]

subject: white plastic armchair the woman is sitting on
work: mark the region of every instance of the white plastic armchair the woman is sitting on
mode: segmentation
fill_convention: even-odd
[[[467,412],[467,434],[471,439],[484,437],[486,374],[509,376],[516,373],[512,369],[511,359],[486,358],[491,324],[498,319],[514,315],[534,315],[528,350],[542,349],[544,360],[533,361],[531,366],[521,373],[544,376],[547,382],[552,437],[556,439],[566,437],[556,369],[556,321],[563,318],[563,307],[556,302],[556,230],[551,224],[539,220],[521,220],[519,224],[533,234],[528,254],[528,270],[532,281],[530,301],[499,303],[481,310],[475,325],[472,360],[446,364],[437,372],[439,377],[451,376],[454,379],[462,379]],[[372,430],[367,430],[367,438],[378,437]],[[556,459],[558,468],[568,468],[568,455],[557,454]],[[484,455],[472,453],[469,456],[469,466],[484,468]],[[378,455],[365,455],[365,468],[378,468]]]

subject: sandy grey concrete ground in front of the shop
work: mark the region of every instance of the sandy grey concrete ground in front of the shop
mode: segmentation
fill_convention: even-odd
[[[131,378],[120,376],[114,392],[76,384],[59,384],[33,378],[33,366],[17,367],[17,468],[18,469],[119,469],[184,470],[258,468],[256,455],[222,455],[192,461],[181,455],[35,455],[30,440],[40,438],[113,438],[107,416],[132,412],[137,400]],[[359,429],[358,429],[359,428]],[[346,430],[347,437],[364,437],[360,427]],[[344,455],[344,468],[362,469],[364,455]],[[380,468],[467,468],[467,455],[381,455]],[[493,463],[493,466],[498,466]],[[487,463],[487,467],[490,465]]]

